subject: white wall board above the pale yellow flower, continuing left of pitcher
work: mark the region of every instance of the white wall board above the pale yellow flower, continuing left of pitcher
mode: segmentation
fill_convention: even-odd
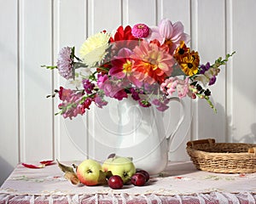
[[[122,2],[120,0],[101,1],[93,0],[88,2],[88,34],[94,35],[98,31],[106,30],[108,32],[116,31],[116,29],[122,24]],[[108,12],[107,12],[108,11]],[[112,11],[112,12],[111,12]],[[114,15],[113,15],[114,14]],[[103,107],[104,109],[104,107]],[[104,160],[107,158],[108,145],[102,143],[107,135],[102,135],[99,132],[101,126],[99,120],[99,112],[101,110],[95,105],[90,106],[88,111],[88,150],[90,158],[96,160]],[[104,124],[107,127],[112,124]]]

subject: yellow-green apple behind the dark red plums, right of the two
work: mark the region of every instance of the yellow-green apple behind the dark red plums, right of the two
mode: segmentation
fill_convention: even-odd
[[[131,158],[115,156],[108,158],[102,165],[104,172],[110,171],[113,175],[119,175],[124,184],[127,184],[131,176],[136,173],[136,167],[134,166]]]

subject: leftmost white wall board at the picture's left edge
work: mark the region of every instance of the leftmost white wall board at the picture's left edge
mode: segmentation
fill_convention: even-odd
[[[19,161],[18,133],[18,3],[0,1],[0,185]]]

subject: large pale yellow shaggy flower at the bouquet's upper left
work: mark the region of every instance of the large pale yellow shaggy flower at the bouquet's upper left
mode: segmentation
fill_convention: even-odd
[[[108,54],[110,34],[107,32],[99,32],[92,37],[88,37],[80,48],[80,56],[84,64],[95,66],[101,64]]]

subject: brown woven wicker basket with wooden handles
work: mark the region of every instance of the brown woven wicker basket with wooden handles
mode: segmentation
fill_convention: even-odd
[[[213,173],[255,173],[256,144],[189,141],[187,151],[197,169]]]

